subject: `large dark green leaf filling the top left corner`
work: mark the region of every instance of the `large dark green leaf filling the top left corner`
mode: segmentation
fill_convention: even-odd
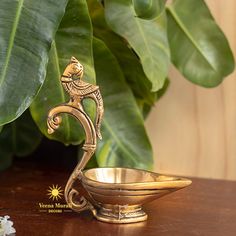
[[[42,85],[66,2],[0,1],[0,125],[20,116]]]

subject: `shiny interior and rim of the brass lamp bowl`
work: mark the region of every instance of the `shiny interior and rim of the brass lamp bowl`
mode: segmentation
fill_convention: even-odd
[[[191,184],[191,180],[182,177],[119,167],[85,170],[82,182],[95,188],[129,190],[183,188]]]

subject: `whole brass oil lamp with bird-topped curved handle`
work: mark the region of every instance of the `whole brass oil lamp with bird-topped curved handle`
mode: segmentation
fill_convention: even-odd
[[[61,77],[61,83],[69,93],[70,100],[51,109],[47,119],[49,134],[59,128],[62,113],[75,117],[85,131],[83,156],[65,187],[66,202],[77,212],[91,210],[98,220],[104,222],[144,221],[147,219],[147,214],[142,210],[144,203],[184,188],[191,184],[191,180],[130,168],[83,170],[96,150],[97,137],[102,139],[100,127],[104,109],[99,87],[84,82],[82,77],[83,66],[72,57]],[[83,108],[82,101],[85,98],[91,98],[96,103],[95,124]],[[89,199],[81,196],[74,188],[77,180],[88,192]]]

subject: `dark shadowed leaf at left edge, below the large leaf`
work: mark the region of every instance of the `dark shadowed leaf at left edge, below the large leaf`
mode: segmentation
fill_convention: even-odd
[[[22,157],[32,153],[41,138],[28,110],[17,120],[5,125],[0,133],[0,170],[11,164],[13,155]]]

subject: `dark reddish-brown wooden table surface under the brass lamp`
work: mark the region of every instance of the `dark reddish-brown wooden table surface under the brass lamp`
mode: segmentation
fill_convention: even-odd
[[[49,186],[64,188],[68,174],[26,164],[0,173],[0,216],[11,217],[17,236],[236,235],[236,182],[193,179],[190,187],[147,204],[148,221],[115,225],[89,212],[40,212],[39,203],[55,203],[47,196]]]

